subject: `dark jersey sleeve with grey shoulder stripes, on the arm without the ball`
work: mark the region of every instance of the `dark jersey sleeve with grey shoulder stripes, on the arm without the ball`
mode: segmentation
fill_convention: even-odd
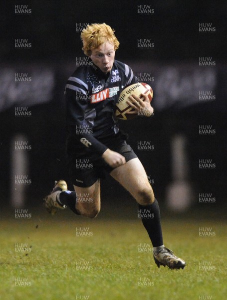
[[[96,110],[88,105],[90,99],[87,84],[77,77],[69,77],[65,86],[65,100],[70,133],[85,147],[102,155],[108,147],[92,134]]]

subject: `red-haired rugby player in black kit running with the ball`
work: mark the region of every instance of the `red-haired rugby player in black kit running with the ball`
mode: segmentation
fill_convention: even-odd
[[[115,60],[119,41],[109,25],[87,25],[81,39],[90,63],[79,66],[65,87],[67,154],[75,191],[69,191],[64,180],[55,181],[52,192],[44,199],[45,206],[52,214],[68,206],[78,215],[95,217],[100,211],[100,178],[109,173],[145,212],[141,218],[158,267],[184,268],[185,261],[163,243],[158,201],[142,163],[127,144],[127,134],[119,130],[114,117],[120,92],[137,83],[137,77],[127,64]],[[144,101],[136,95],[129,97],[128,103],[134,108],[130,113],[137,114],[143,109],[146,116],[151,116],[153,108],[149,98],[142,95]],[[84,195],[89,195],[90,200],[84,201]]]

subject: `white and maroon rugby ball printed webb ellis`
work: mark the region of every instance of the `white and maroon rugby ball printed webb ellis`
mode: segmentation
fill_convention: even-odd
[[[145,93],[148,95],[148,98],[151,102],[153,97],[153,90],[151,86],[147,83],[139,82],[134,83],[122,90],[120,93],[120,97],[116,103],[116,110],[115,110],[115,116],[121,120],[128,120],[132,119],[137,116],[137,114],[128,114],[129,111],[132,111],[134,108],[132,108],[128,103],[128,97],[131,94],[135,94],[141,99],[143,99],[143,96],[141,93]]]

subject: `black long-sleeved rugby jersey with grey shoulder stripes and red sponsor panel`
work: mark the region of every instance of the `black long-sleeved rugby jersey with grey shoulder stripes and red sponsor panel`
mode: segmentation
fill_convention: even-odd
[[[90,60],[79,66],[65,86],[66,117],[71,137],[101,155],[107,149],[100,139],[117,134],[115,104],[121,91],[137,83],[132,69],[115,60],[111,71],[103,73]]]

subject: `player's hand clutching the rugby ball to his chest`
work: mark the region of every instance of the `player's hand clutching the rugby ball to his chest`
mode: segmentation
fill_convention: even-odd
[[[127,100],[127,103],[134,108],[134,110],[127,112],[128,114],[138,114],[141,112],[141,115],[151,116],[154,108],[151,106],[148,95],[141,93],[144,99],[140,99],[137,95],[131,94]]]

